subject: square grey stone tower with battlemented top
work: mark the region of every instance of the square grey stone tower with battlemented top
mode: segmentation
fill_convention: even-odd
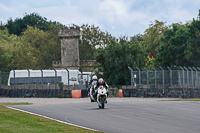
[[[80,28],[60,28],[58,37],[61,39],[61,68],[78,69]]]

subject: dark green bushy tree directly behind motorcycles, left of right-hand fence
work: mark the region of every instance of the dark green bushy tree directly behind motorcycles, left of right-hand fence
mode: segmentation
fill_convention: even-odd
[[[106,48],[99,48],[96,56],[101,64],[103,78],[112,85],[130,84],[128,66],[143,67],[145,53],[139,43],[131,43],[121,38],[119,43],[112,40]]]

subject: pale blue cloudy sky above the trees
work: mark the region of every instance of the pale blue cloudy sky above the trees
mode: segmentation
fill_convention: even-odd
[[[197,18],[200,0],[0,0],[0,21],[38,13],[63,25],[95,25],[115,37],[144,34],[155,20],[166,25]]]

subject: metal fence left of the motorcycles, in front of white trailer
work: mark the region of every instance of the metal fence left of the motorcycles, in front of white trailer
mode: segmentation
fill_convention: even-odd
[[[0,89],[86,89],[87,83],[90,80],[90,74],[77,74],[74,78],[71,78],[70,72],[63,76],[57,75],[56,70],[54,75],[49,75],[47,72],[41,71],[40,76],[33,77],[31,72],[27,70],[25,76],[17,77],[15,72],[10,77],[10,72],[0,71]],[[66,84],[62,84],[62,78],[67,79]]]

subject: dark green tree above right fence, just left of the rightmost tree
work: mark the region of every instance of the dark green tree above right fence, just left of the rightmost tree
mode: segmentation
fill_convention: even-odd
[[[184,54],[187,47],[188,28],[185,25],[173,24],[164,32],[158,54],[154,60],[157,66],[190,66],[191,63]]]

